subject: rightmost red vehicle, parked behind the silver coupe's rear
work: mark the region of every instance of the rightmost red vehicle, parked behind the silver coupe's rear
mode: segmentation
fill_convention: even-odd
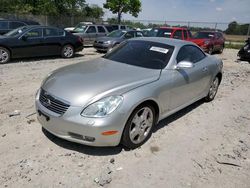
[[[225,38],[221,32],[217,31],[197,32],[190,41],[200,46],[209,54],[214,52],[222,53],[225,47]]]

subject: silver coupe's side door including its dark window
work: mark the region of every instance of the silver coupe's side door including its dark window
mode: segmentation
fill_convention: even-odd
[[[172,89],[170,94],[170,110],[191,103],[207,91],[211,74],[207,64],[207,56],[194,45],[185,45],[176,57],[176,64],[181,61],[193,63],[192,68],[175,69],[172,74]]]

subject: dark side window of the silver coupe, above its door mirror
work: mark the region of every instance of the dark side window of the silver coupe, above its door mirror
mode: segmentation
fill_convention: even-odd
[[[176,60],[177,63],[180,61],[190,61],[192,63],[196,63],[205,57],[206,55],[196,46],[186,45],[180,49]]]

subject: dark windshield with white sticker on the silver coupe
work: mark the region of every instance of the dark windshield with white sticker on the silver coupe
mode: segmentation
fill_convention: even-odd
[[[126,41],[104,58],[149,69],[163,69],[168,64],[174,47],[150,41]]]

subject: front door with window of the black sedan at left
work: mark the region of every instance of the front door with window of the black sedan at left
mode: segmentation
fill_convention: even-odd
[[[44,53],[42,28],[25,32],[18,38],[12,49],[14,57],[42,56]]]

